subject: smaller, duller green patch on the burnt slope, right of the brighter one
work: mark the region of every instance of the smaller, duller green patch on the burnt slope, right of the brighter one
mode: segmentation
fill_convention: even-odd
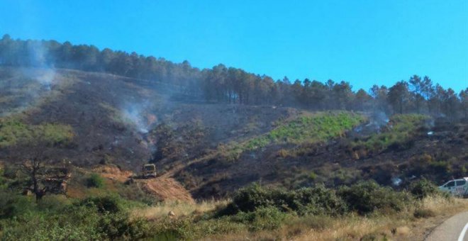
[[[368,151],[379,152],[387,147],[406,148],[411,145],[411,136],[415,131],[423,126],[428,116],[419,114],[398,114],[391,116],[389,126],[382,133],[370,135],[364,140],[352,142],[354,149],[364,148]]]

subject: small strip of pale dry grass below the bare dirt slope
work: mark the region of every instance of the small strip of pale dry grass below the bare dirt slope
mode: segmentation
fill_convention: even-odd
[[[147,220],[157,220],[165,218],[169,212],[173,212],[176,217],[182,217],[192,214],[201,214],[213,211],[216,208],[226,206],[229,200],[222,201],[201,201],[198,203],[186,203],[181,201],[164,201],[156,206],[148,208],[138,208],[133,210],[134,216],[144,217]]]

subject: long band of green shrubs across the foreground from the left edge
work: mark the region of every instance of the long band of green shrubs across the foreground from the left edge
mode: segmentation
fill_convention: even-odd
[[[338,190],[316,186],[288,191],[254,184],[240,189],[217,211],[145,220],[130,215],[141,203],[120,196],[76,200],[51,195],[35,203],[29,196],[0,189],[0,240],[203,240],[209,235],[277,230],[298,220],[323,228],[323,220],[350,212],[398,213],[414,205],[415,197],[374,181]],[[417,218],[430,215],[424,210],[414,213]]]

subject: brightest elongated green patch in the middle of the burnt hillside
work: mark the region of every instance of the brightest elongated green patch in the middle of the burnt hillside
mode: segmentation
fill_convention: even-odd
[[[364,120],[364,116],[346,111],[301,116],[280,125],[266,135],[250,140],[247,142],[247,149],[253,150],[278,142],[295,144],[322,142],[343,135],[345,131],[363,123]]]

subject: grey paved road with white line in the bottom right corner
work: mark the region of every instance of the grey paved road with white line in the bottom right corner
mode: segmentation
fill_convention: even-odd
[[[430,233],[426,241],[468,241],[468,212],[458,213]]]

